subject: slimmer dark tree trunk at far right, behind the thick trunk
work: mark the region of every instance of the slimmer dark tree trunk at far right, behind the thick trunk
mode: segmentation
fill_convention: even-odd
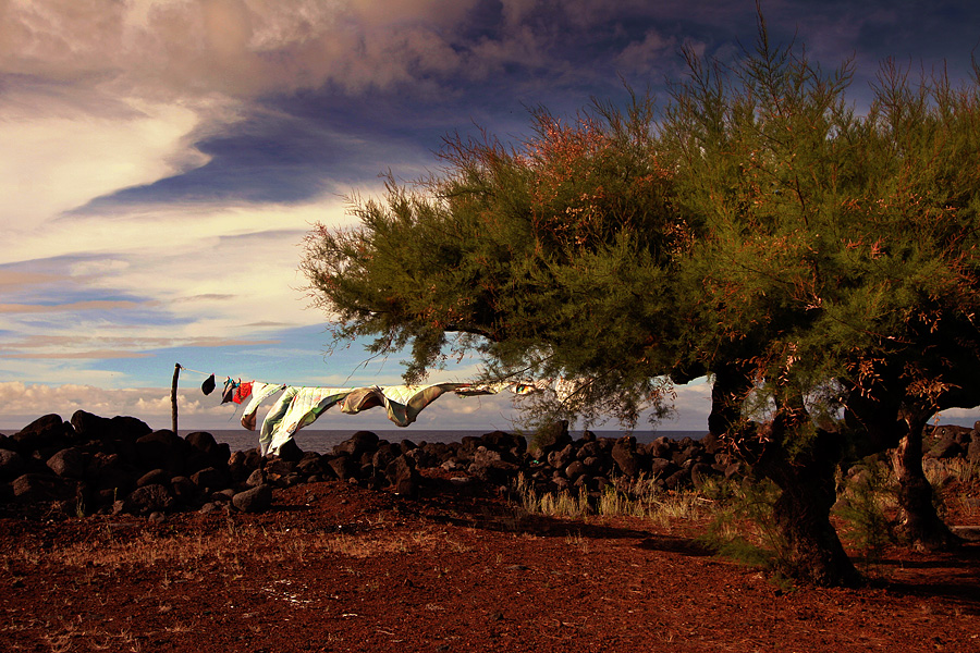
[[[908,434],[892,453],[892,465],[898,477],[898,507],[902,509],[899,534],[920,549],[945,550],[961,540],[940,519],[932,503],[932,485],[922,469],[922,429],[926,420],[908,419]]]

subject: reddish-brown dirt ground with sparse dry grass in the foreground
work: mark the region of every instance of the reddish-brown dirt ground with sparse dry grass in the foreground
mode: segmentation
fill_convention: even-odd
[[[8,517],[0,651],[980,651],[980,543],[780,588],[702,529],[341,482],[261,515]]]

